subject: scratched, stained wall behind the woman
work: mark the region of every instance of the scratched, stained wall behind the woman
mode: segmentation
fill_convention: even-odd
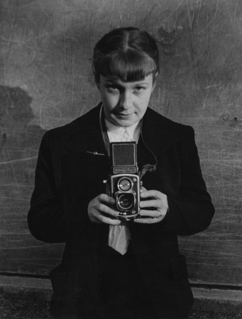
[[[216,214],[180,238],[195,283],[242,285],[242,1],[0,0],[0,272],[45,275],[62,245],[26,217],[45,130],[98,101],[92,48],[119,26],[146,29],[162,72],[151,107],[196,130]]]

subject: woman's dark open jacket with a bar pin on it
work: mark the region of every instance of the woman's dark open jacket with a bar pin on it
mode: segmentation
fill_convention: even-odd
[[[103,181],[109,171],[99,113],[100,105],[47,131],[40,145],[28,215],[30,232],[38,240],[66,243],[62,264],[52,272],[52,313],[60,307],[61,314],[64,308],[68,315],[70,309],[75,314],[76,301],[84,313],[90,309],[99,313],[101,307],[98,285],[109,225],[91,223],[87,212],[91,199],[106,192]],[[139,169],[152,164],[147,146],[158,164],[155,172],[143,176],[143,186],[165,193],[169,211],[160,223],[129,222],[132,244],[157,311],[168,317],[164,309],[169,308],[171,317],[183,318],[193,297],[177,235],[206,229],[214,208],[202,178],[193,128],[148,108],[137,144]]]

